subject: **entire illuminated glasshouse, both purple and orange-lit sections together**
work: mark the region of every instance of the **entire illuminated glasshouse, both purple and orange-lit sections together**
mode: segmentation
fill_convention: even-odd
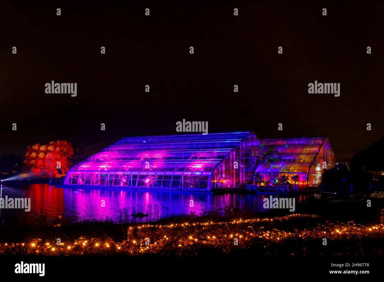
[[[233,189],[320,184],[335,158],[327,138],[259,140],[253,131],[122,138],[73,166],[64,184],[139,189]]]

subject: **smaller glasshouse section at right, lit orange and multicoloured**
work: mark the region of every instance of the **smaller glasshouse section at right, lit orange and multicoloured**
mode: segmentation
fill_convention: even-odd
[[[262,139],[261,143],[264,157],[255,169],[260,185],[278,184],[282,175],[291,184],[318,185],[326,164],[336,161],[325,137]]]

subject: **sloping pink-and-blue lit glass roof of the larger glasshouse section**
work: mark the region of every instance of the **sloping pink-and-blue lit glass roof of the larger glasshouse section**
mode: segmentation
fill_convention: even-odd
[[[122,138],[70,171],[212,172],[251,132]]]

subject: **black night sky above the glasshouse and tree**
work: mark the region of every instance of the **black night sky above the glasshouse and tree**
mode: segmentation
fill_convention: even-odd
[[[383,135],[383,3],[126,2],[3,3],[0,157],[53,139],[89,156],[175,133],[183,118],[259,138],[326,135],[347,161]],[[76,82],[77,97],[46,94],[51,80]],[[340,97],[308,94],[314,80],[340,83]]]

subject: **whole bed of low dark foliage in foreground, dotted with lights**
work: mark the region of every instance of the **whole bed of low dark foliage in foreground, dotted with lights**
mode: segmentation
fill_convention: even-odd
[[[275,218],[235,219],[170,225],[141,224],[126,239],[79,237],[74,241],[31,239],[1,243],[0,254],[28,255],[365,255],[382,254],[384,225],[317,223],[318,216],[292,214]],[[327,239],[327,245],[323,239]],[[235,244],[238,242],[238,244]]]

